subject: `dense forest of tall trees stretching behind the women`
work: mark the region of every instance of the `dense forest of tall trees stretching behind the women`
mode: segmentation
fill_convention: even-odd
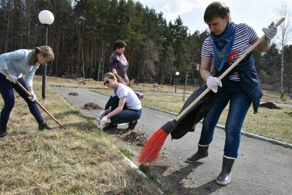
[[[48,45],[55,52],[55,60],[48,64],[48,76],[100,81],[109,71],[114,42],[125,40],[130,79],[173,84],[175,79],[184,83],[187,78],[188,83],[202,83],[201,46],[209,30],[190,32],[180,16],[167,23],[162,12],[133,0],[0,0],[1,54],[43,45],[44,26],[38,14],[44,9],[55,17],[48,33]],[[285,16],[286,23],[284,29],[279,28],[279,38],[267,52],[254,52],[260,83],[288,87],[289,92],[290,14],[282,4],[278,15]],[[177,71],[180,75],[176,78]],[[37,74],[42,74],[41,66]]]

